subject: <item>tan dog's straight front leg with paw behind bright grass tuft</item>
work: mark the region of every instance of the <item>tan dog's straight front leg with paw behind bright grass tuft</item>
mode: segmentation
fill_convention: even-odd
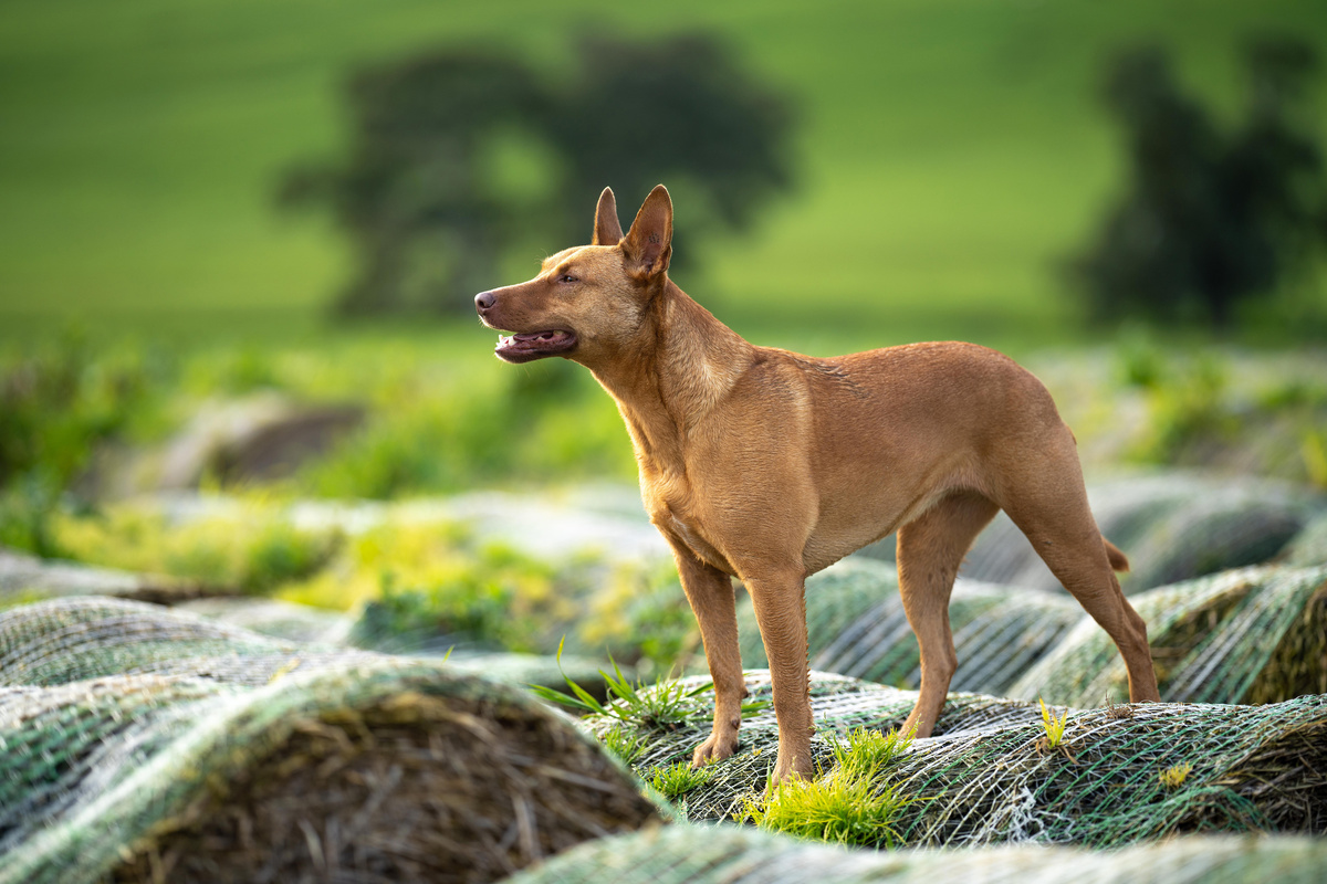
[[[807,672],[807,598],[805,574],[800,569],[768,571],[760,577],[743,575],[747,592],[760,624],[760,640],[770,660],[774,685],[774,714],[779,720],[779,758],[774,782],[790,775],[809,777],[811,692]]]

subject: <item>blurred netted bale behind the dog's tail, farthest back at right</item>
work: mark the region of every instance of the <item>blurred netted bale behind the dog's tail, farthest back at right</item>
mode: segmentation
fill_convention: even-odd
[[[1162,473],[1093,484],[1088,500],[1101,533],[1129,557],[1125,592],[1271,561],[1316,514],[1323,498],[1262,478]],[[893,541],[868,554],[893,558]],[[977,538],[962,575],[1058,590],[1059,580],[1001,513]]]

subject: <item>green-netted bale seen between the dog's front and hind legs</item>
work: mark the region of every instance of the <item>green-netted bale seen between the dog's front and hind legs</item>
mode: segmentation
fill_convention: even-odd
[[[898,595],[893,566],[845,559],[807,580],[811,667],[882,684],[916,688],[921,657]],[[1005,693],[1083,618],[1063,594],[959,579],[949,606],[958,651],[951,688]],[[742,660],[764,667],[750,600],[739,608]]]

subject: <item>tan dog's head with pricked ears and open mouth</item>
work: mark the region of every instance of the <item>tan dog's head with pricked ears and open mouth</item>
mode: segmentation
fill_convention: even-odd
[[[632,346],[650,298],[667,281],[673,200],[660,184],[622,235],[613,191],[594,211],[594,239],[544,260],[539,276],[480,292],[475,310],[490,329],[507,331],[495,353],[506,362],[567,357],[593,364]]]

